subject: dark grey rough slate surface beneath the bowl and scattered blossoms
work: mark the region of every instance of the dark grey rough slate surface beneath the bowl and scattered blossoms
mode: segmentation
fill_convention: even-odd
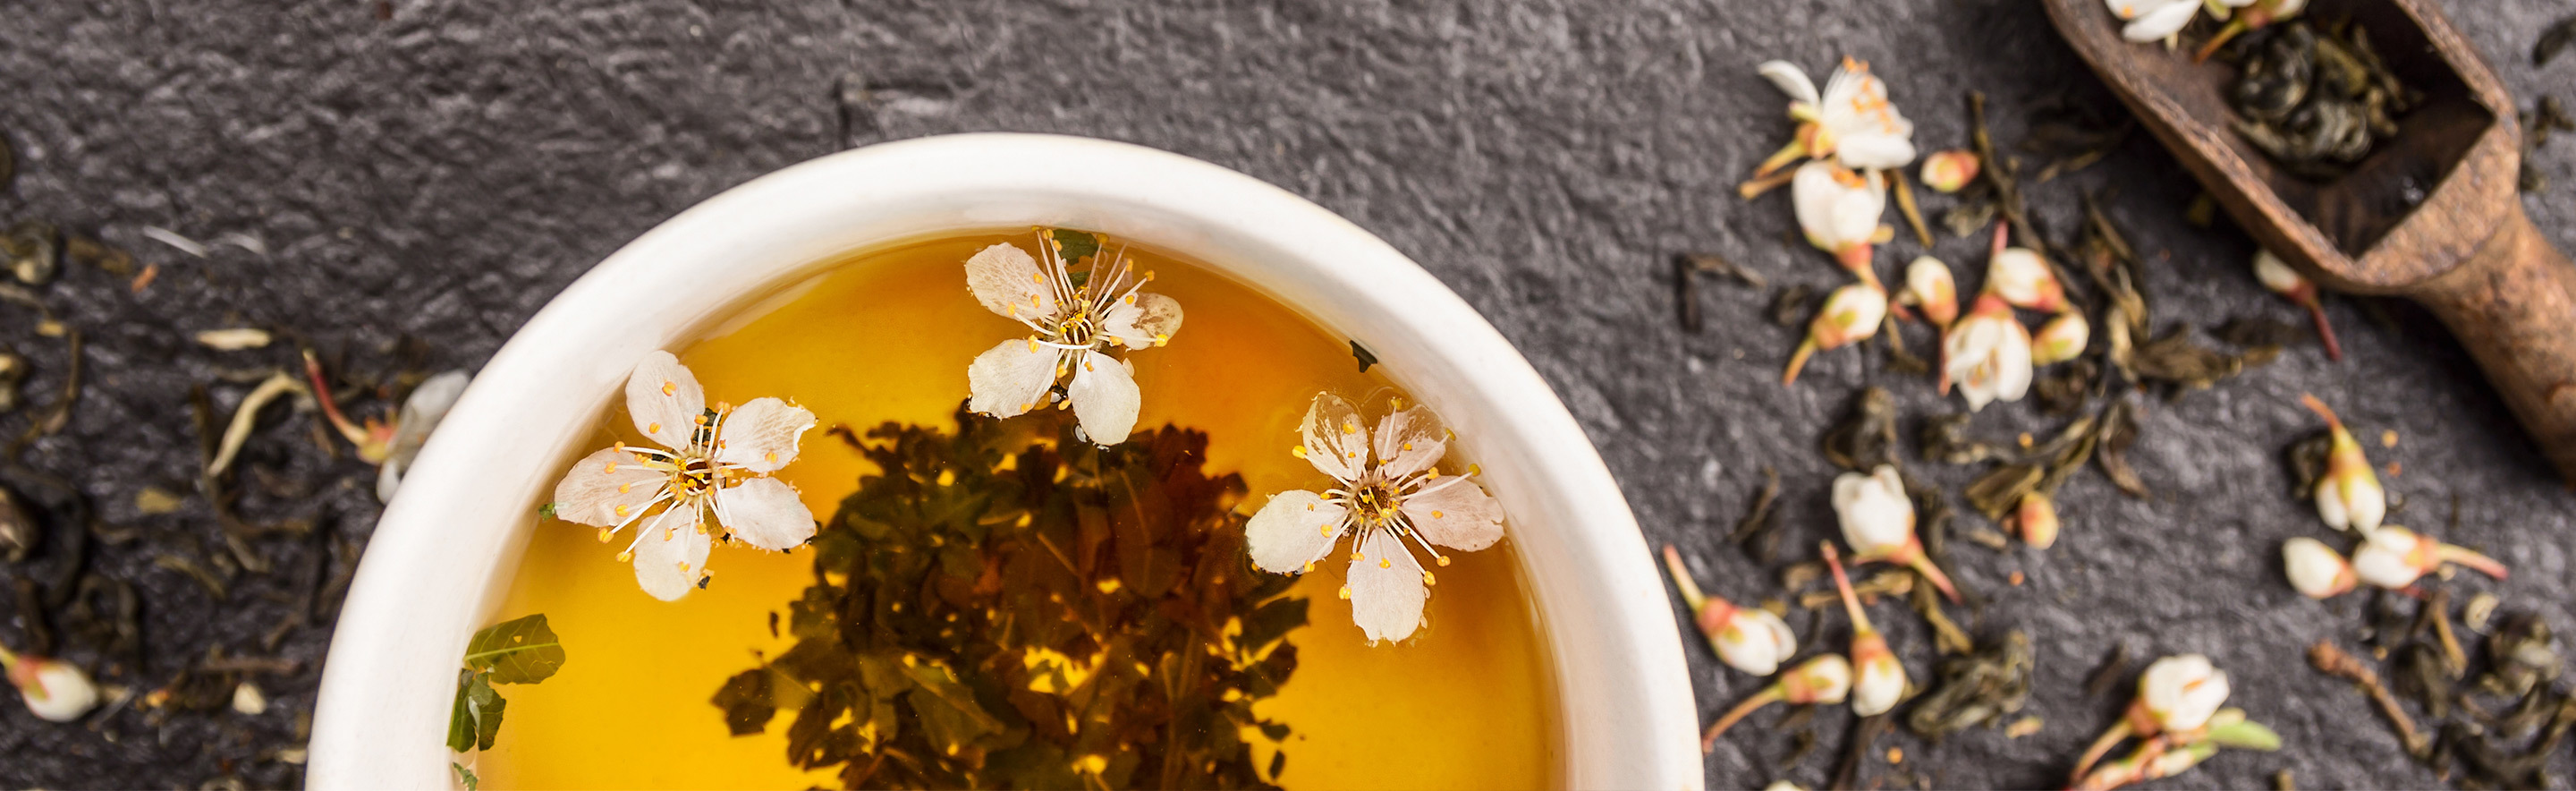
[[[1752,67],[1785,57],[1821,80],[1839,54],[1870,59],[1924,149],[1965,144],[1968,88],[1994,95],[2004,142],[2050,98],[2110,103],[2022,0],[497,5],[518,3],[103,0],[5,13],[0,134],[21,175],[0,214],[49,216],[162,265],[139,294],[98,271],[44,291],[88,332],[90,392],[64,435],[0,477],[41,502],[62,497],[31,484],[31,472],[70,477],[106,523],[142,528],[139,544],[93,544],[93,569],[147,587],[144,667],[121,667],[113,683],[155,688],[209,644],[260,654],[260,636],[286,618],[281,600],[301,605],[314,580],[340,569],[314,564],[314,538],[283,536],[258,544],[278,572],[240,577],[229,600],[152,567],[170,546],[198,557],[191,541],[219,546],[204,502],[178,515],[134,508],[139,487],[185,490],[196,474],[188,386],[219,381],[216,402],[229,410],[247,384],[224,384],[227,374],[291,361],[286,350],[211,353],[188,332],[291,327],[368,376],[394,366],[399,338],[425,340],[420,366],[474,366],[590,263],[726,186],[853,144],[989,129],[1175,149],[1383,234],[1548,376],[1649,541],[1682,544],[1716,593],[1759,598],[1770,572],[1718,538],[1759,466],[1777,464],[1785,479],[1785,544],[1808,546],[1832,533],[1829,472],[1811,448],[1860,384],[1896,389],[1909,415],[1955,402],[1880,371],[1875,353],[1826,353],[1783,389],[1775,379],[1795,335],[1757,319],[1767,294],[1752,289],[1710,286],[1713,330],[1677,327],[1667,271],[1677,250],[1718,250],[1780,283],[1837,283],[1824,255],[1790,242],[1785,198],[1744,204],[1728,191],[1788,134],[1783,100]],[[2576,98],[2576,62],[2527,62],[2563,3],[2450,5],[2519,95]],[[2576,250],[2576,186],[2566,186],[2576,147],[2537,162],[2563,186],[2524,206]],[[2154,260],[2146,286],[2159,325],[2298,319],[2246,276],[2241,234],[2182,222],[2197,188],[2143,137],[2035,188],[2032,201],[2043,224],[2066,232],[2076,196],[2102,188],[2117,191],[2110,211]],[[147,224],[198,240],[250,234],[268,255],[185,258],[142,240]],[[1888,273],[1917,253],[1891,247],[1880,253]],[[1945,240],[1937,255],[1973,283],[1976,250]],[[2133,456],[2156,497],[2125,500],[2081,474],[2061,492],[2056,551],[1958,549],[1963,582],[1996,598],[1981,624],[2030,629],[2040,644],[2030,714],[2045,729],[2025,739],[1971,732],[1940,747],[1891,737],[1906,760],[1873,776],[2058,783],[2123,706],[2087,698],[2081,680],[2112,644],[2128,644],[2141,657],[2208,652],[2233,672],[2236,703],[2287,737],[2277,755],[2228,752],[2166,786],[2257,786],[2280,768],[2316,788],[2434,783],[2360,696],[2300,662],[2318,636],[2349,642],[2362,600],[2318,605],[2280,580],[2277,544],[2324,533],[2287,497],[2280,448],[2316,428],[2293,399],[2326,397],[2370,438],[2375,461],[2403,464],[2388,487],[2411,505],[2393,520],[2439,528],[2458,500],[2452,538],[2514,567],[2509,585],[2452,585],[2499,590],[2558,624],[2576,624],[2576,495],[2543,472],[2427,314],[2354,299],[2334,299],[2331,312],[2347,363],[2298,348],[2215,392],[2151,405]],[[64,348],[31,325],[21,307],[0,307],[0,343],[36,361],[28,399],[44,402],[62,381]],[[23,420],[0,417],[0,428],[15,433]],[[345,484],[260,492],[245,513],[363,536],[368,469],[327,461],[301,417],[270,423],[252,466],[330,472]],[[2027,405],[1978,417],[1989,435],[2048,428]],[[2378,448],[2383,428],[2401,433],[2396,448]],[[1955,487],[1968,472],[1932,477]],[[59,564],[57,544],[8,575]],[[2004,585],[2012,569],[2030,582]],[[1893,605],[1878,618],[1911,675],[1929,678],[1919,624]],[[1834,644],[1837,621],[1826,626]],[[1793,624],[1806,629],[1803,616]],[[278,654],[307,667],[263,678],[276,706],[255,719],[155,729],[124,711],[64,729],[0,706],[0,786],[294,783],[291,768],[258,752],[296,739],[325,644],[327,629],[289,631]],[[1690,647],[1690,665],[1700,711],[1757,688],[1721,672],[1705,647]],[[1821,714],[1821,750],[1790,765],[1780,763],[1788,737],[1762,729],[1770,721],[1757,716],[1710,755],[1710,786],[1824,783],[1847,714]],[[2558,776],[2568,768],[2561,755]]]

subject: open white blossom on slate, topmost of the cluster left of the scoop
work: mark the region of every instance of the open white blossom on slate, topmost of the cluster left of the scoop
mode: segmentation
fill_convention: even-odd
[[[1824,80],[1824,93],[1790,62],[1765,62],[1757,67],[1780,93],[1788,93],[1788,116],[1798,119],[1798,137],[1754,170],[1754,178],[1788,167],[1801,157],[1832,157],[1852,170],[1888,170],[1914,162],[1914,121],[1888,103],[1888,82],[1870,75],[1870,64],[1842,59],[1834,77]]]

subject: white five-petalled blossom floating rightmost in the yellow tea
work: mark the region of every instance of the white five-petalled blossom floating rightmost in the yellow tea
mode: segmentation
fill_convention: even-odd
[[[1435,464],[1448,453],[1450,430],[1430,407],[1396,402],[1378,417],[1378,430],[1368,430],[1360,410],[1324,392],[1306,407],[1301,430],[1306,443],[1291,453],[1337,487],[1270,497],[1244,526],[1252,564],[1273,575],[1314,572],[1342,533],[1355,533],[1342,585],[1350,618],[1370,642],[1412,636],[1437,585],[1414,562],[1414,546],[1443,567],[1448,557],[1432,544],[1458,551],[1494,546],[1502,505],[1466,474],[1440,474]]]

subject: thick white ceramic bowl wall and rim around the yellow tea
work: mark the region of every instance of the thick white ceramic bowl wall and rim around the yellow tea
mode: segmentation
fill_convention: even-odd
[[[1038,134],[894,142],[672,216],[546,304],[466,389],[358,564],[312,788],[446,788],[456,657],[505,593],[528,508],[636,358],[835,255],[961,229],[1082,227],[1182,253],[1370,338],[1473,438],[1538,598],[1577,788],[1700,788],[1698,709],[1646,544],[1584,430],[1466,301],[1365,229],[1234,170]],[[724,273],[724,276],[711,276]]]

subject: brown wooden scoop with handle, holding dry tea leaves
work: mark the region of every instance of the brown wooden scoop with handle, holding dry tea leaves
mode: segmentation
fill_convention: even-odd
[[[2313,0],[2352,18],[2424,103],[2352,173],[2285,173],[2241,134],[2236,67],[2120,39],[2102,0],[2043,0],[2074,44],[2182,167],[2246,232],[2318,283],[2429,307],[2478,358],[2540,451],[2576,487],[2576,265],[2522,216],[2514,98],[2434,0]]]

